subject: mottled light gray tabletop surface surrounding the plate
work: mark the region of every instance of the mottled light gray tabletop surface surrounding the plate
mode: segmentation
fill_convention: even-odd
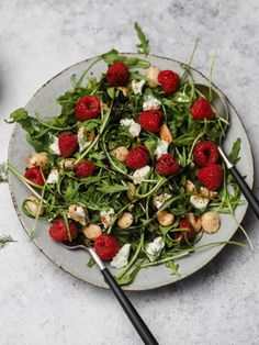
[[[134,51],[138,21],[154,54],[187,62],[199,38],[193,65],[209,74],[217,52],[214,81],[241,115],[258,171],[258,16],[257,0],[0,0],[0,160],[7,158],[12,126],[2,120],[10,111],[78,60],[111,47]],[[0,343],[140,344],[110,291],[54,266],[27,241],[7,185],[0,196],[0,234],[19,241],[0,249]],[[244,225],[255,253],[226,247],[189,279],[130,293],[160,344],[259,344],[259,232],[250,211]]]

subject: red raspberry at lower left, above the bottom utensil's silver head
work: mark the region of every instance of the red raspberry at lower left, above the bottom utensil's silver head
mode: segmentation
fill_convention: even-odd
[[[71,240],[76,238],[78,235],[77,225],[74,222],[69,221],[68,227],[69,227]],[[48,234],[53,240],[56,240],[56,241],[69,240],[68,231],[67,231],[67,227],[63,218],[57,219],[56,222],[53,223],[53,225],[48,230]]]

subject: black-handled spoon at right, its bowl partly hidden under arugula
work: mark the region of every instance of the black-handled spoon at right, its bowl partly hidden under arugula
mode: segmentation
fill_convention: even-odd
[[[205,85],[195,84],[195,88],[201,91],[206,98],[210,98],[210,88]],[[229,112],[227,108],[226,100],[223,94],[221,94],[215,89],[212,89],[211,91],[212,97],[212,105],[216,110],[217,113],[221,114],[223,119],[226,120],[225,129],[227,126],[227,122],[229,119]],[[244,197],[246,198],[247,202],[254,210],[256,216],[259,219],[259,200],[252,192],[251,188],[247,185],[244,177],[240,175],[240,172],[237,170],[237,168],[234,166],[234,164],[229,160],[227,155],[224,153],[222,146],[217,146],[219,155],[222,156],[222,159],[225,162],[226,168],[230,171],[232,176],[235,178],[237,185],[239,186]]]

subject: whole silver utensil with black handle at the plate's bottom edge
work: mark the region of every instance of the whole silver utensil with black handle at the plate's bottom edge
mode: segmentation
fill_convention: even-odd
[[[156,341],[156,338],[154,337],[125,292],[113,278],[110,270],[103,264],[97,252],[88,245],[87,238],[82,234],[79,234],[78,237],[76,240],[72,240],[71,242],[64,241],[63,245],[70,251],[85,249],[91,255],[94,263],[100,268],[106,283],[110,286],[111,290],[115,294],[116,299],[124,309],[125,313],[127,314],[128,319],[131,320],[143,342],[147,345],[158,345],[158,342]]]

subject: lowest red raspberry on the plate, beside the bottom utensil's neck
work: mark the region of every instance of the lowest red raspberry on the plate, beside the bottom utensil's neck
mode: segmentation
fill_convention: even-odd
[[[97,254],[102,260],[111,260],[119,252],[120,246],[111,235],[101,235],[93,243]]]

